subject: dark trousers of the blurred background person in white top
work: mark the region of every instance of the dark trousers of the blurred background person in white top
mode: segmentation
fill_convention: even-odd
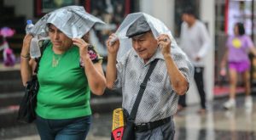
[[[206,92],[204,90],[204,81],[203,81],[203,73],[204,73],[204,68],[203,67],[195,67],[195,84],[198,89],[200,99],[201,99],[201,108],[206,109]],[[180,96],[178,98],[178,104],[186,107],[186,94],[183,96]]]

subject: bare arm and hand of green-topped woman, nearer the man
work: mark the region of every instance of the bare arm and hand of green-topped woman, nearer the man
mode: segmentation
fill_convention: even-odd
[[[84,63],[84,72],[87,77],[91,92],[96,95],[102,95],[106,88],[106,78],[102,70],[102,62],[93,64],[88,54],[87,42],[83,39],[73,38],[73,44],[79,47],[80,58]]]

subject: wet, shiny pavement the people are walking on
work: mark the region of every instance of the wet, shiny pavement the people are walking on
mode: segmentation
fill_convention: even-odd
[[[237,98],[237,108],[224,110],[226,98],[208,104],[206,114],[196,113],[199,105],[191,105],[174,116],[175,140],[254,140],[256,139],[256,104],[253,109],[243,107],[244,97]],[[253,97],[255,103],[256,97]],[[94,114],[87,140],[110,139],[111,113]],[[0,128],[0,139],[38,140],[36,127],[31,125]]]

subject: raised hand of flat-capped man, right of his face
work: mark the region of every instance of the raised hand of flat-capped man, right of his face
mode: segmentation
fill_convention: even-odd
[[[158,46],[164,56],[171,54],[171,39],[166,34],[161,34],[157,37]]]

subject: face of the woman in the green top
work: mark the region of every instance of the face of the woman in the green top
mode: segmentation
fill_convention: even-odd
[[[73,44],[71,38],[67,37],[62,31],[52,24],[49,25],[49,39],[53,43],[53,47],[60,50],[66,50]]]

